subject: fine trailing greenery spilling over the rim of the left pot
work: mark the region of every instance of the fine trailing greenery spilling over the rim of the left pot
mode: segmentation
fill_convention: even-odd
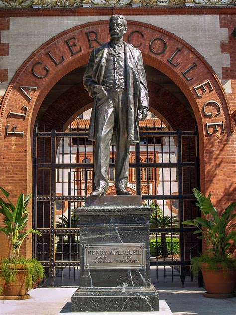
[[[26,285],[35,288],[36,285],[45,277],[44,268],[37,259],[26,259],[19,257],[17,259],[3,258],[1,275],[6,284],[15,281],[17,275],[17,264],[23,264],[27,270]]]

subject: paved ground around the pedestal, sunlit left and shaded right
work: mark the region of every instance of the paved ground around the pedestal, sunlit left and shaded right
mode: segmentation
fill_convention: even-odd
[[[236,298],[231,299],[209,299],[203,296],[205,290],[198,288],[196,281],[191,282],[190,277],[186,278],[184,287],[181,285],[179,275],[174,271],[174,281],[172,282],[171,268],[166,268],[166,279],[164,280],[164,270],[158,273],[156,280],[156,269],[151,269],[152,283],[157,288],[160,300],[168,304],[174,315],[236,315]],[[68,302],[76,288],[49,288],[38,287],[30,290],[30,299],[24,301],[0,301],[1,315],[58,315],[64,313]],[[164,310],[166,307],[161,302]],[[63,309],[64,308],[64,309]],[[61,315],[63,314],[61,313]],[[155,315],[158,312],[123,312],[122,315]],[[69,315],[70,313],[64,313]],[[81,313],[79,313],[81,314]],[[85,314],[85,313],[84,313]],[[86,313],[87,315],[91,313]],[[93,315],[104,313],[93,313]],[[107,315],[116,313],[106,313]],[[163,315],[169,315],[168,309]],[[82,315],[82,314],[81,314]]]

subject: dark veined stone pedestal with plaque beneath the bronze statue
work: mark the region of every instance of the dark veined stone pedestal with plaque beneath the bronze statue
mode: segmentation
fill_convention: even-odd
[[[72,312],[159,311],[141,196],[88,197],[80,218],[80,287]]]

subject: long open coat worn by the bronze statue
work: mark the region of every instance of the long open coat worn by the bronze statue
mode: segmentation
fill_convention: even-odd
[[[90,126],[88,138],[96,140],[95,135],[95,118],[96,107],[99,100],[93,92],[94,85],[102,85],[104,70],[106,65],[107,52],[109,42],[102,46],[93,49],[89,62],[84,74],[84,86],[91,97],[94,97],[94,104],[90,118]],[[128,98],[127,113],[128,116],[128,141],[130,143],[139,142],[139,126],[137,114],[139,109],[148,109],[148,91],[146,83],[146,74],[143,67],[142,54],[133,45],[124,42],[124,60],[126,67],[126,89]],[[101,105],[102,106],[102,105]],[[115,136],[115,135],[114,135]],[[112,137],[112,143],[115,142],[115,137]]]

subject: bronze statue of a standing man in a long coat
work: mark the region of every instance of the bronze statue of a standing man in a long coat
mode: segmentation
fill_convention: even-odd
[[[110,41],[93,49],[84,74],[84,86],[94,98],[88,138],[95,140],[95,186],[91,195],[108,189],[111,143],[116,144],[117,195],[131,194],[128,182],[130,144],[139,142],[138,120],[148,112],[148,91],[142,54],[123,41],[127,21],[122,15],[109,19]]]

